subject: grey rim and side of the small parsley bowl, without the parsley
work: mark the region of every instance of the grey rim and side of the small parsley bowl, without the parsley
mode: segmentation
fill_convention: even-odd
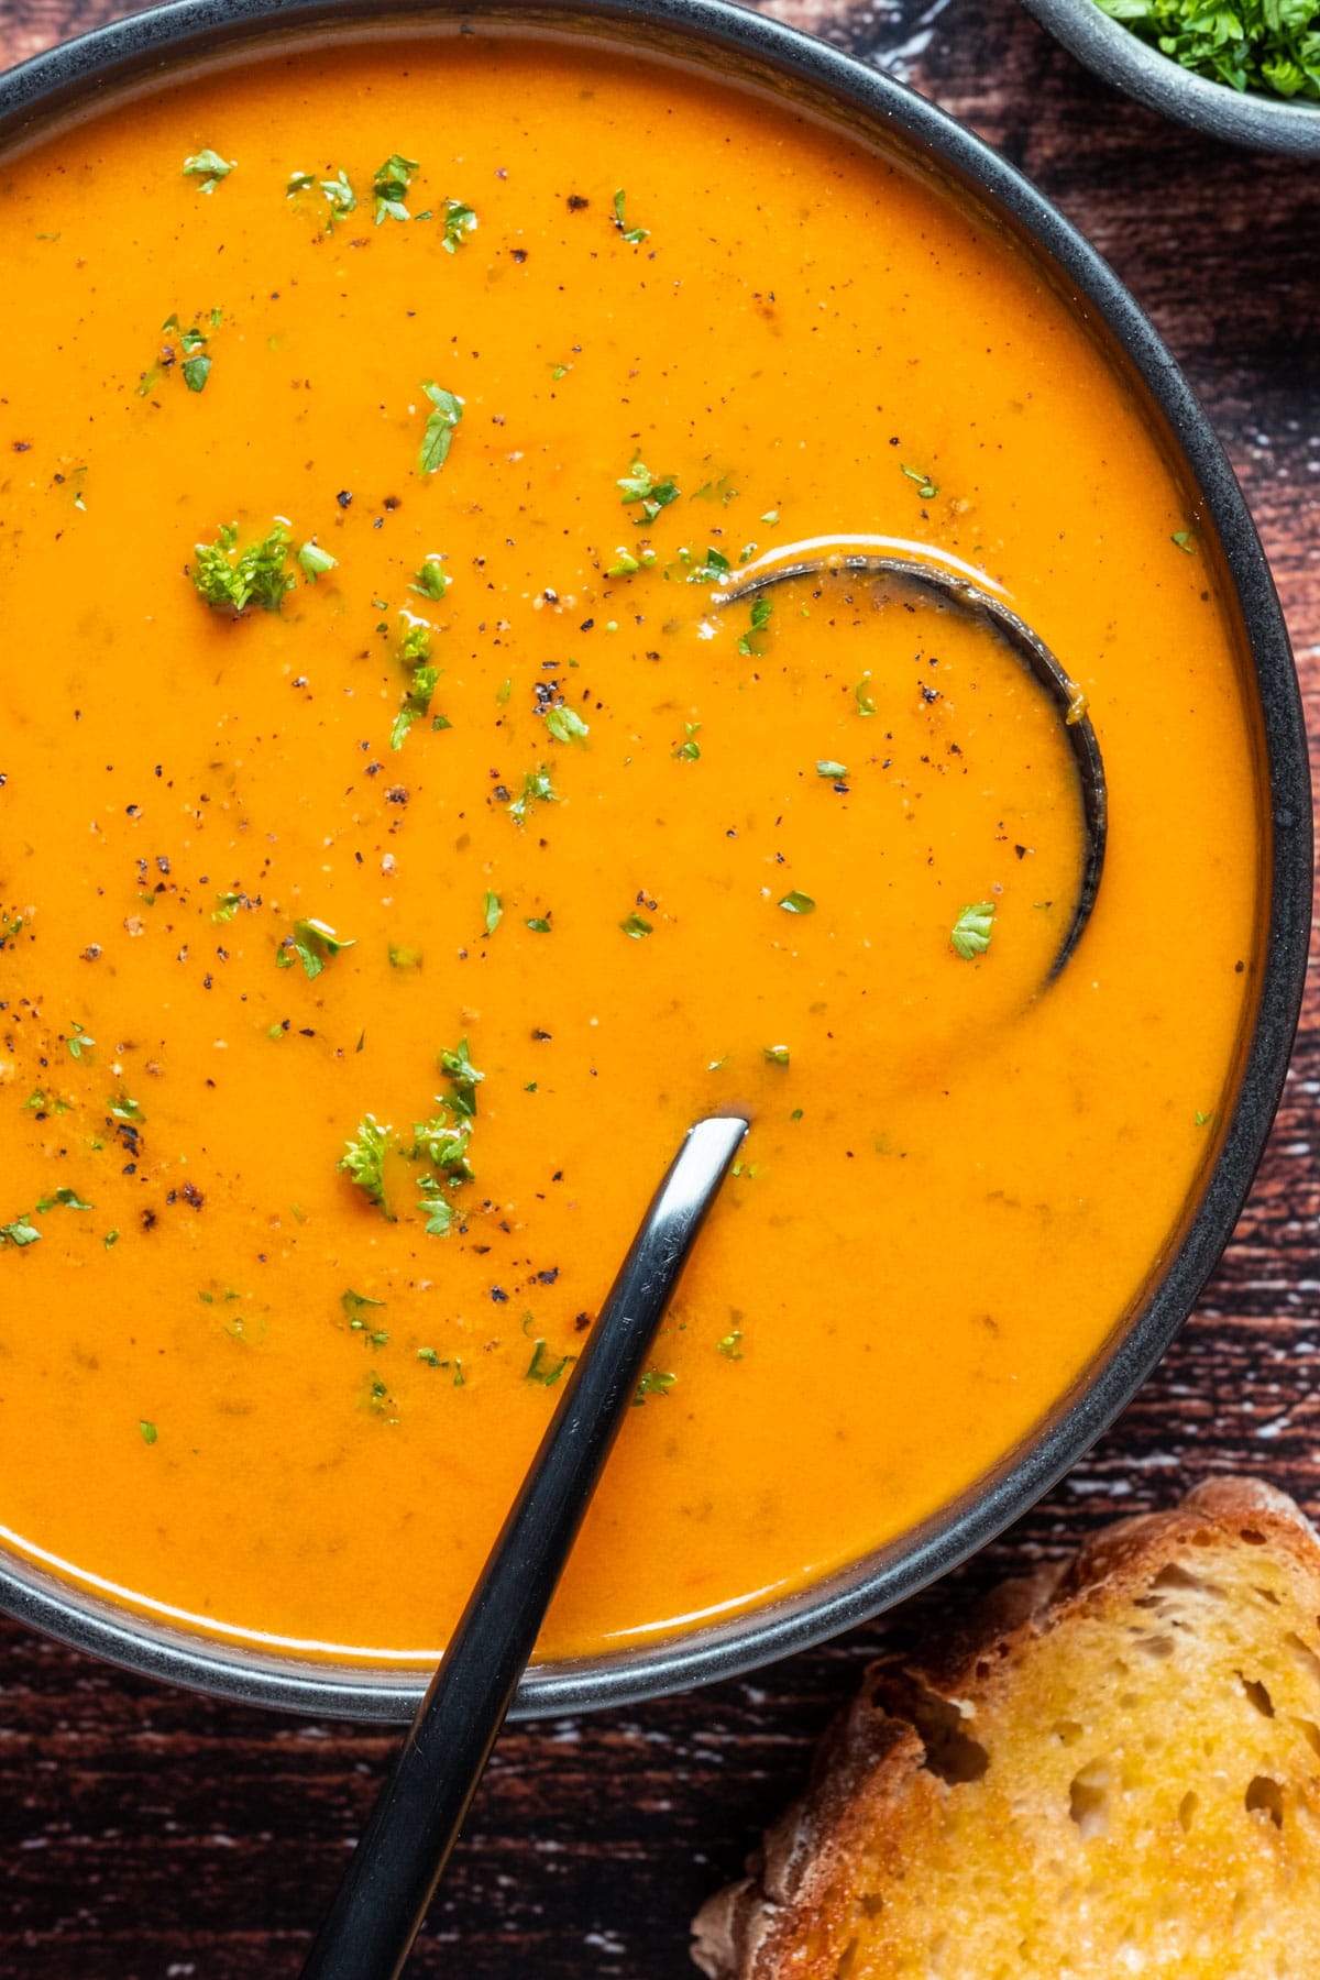
[[[1320,158],[1320,103],[1241,93],[1193,75],[1102,14],[1096,0],[1023,0],[1023,6],[1069,53],[1148,109],[1227,145]]]

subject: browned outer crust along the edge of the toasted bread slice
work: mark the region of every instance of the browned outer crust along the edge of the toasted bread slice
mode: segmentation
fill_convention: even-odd
[[[932,1772],[930,1742],[950,1725],[956,1738],[962,1717],[993,1713],[1033,1637],[1130,1598],[1162,1568],[1195,1562],[1207,1538],[1278,1550],[1310,1580],[1320,1608],[1316,1529],[1286,1493],[1245,1477],[1197,1485],[1176,1509],[1116,1521],[1061,1566],[1005,1582],[920,1663],[883,1659],[867,1669],[859,1697],[821,1742],[803,1798],[768,1832],[748,1875],[697,1915],[695,1964],[708,1980],[833,1976],[827,1923],[839,1871],[863,1847],[896,1863],[902,1826],[958,1778]],[[819,1956],[803,1946],[813,1919]]]

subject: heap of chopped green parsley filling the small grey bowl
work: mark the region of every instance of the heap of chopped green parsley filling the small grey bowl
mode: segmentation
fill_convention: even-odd
[[[1098,0],[1110,20],[1229,89],[1320,99],[1316,0]]]

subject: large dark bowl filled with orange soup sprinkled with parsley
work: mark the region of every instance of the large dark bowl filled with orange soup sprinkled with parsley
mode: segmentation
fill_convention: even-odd
[[[0,83],[0,1602],[406,1715],[689,1121],[754,1127],[522,1711],[1045,1491],[1213,1269],[1310,917],[1296,681],[1112,273],[710,4],[160,8]],[[922,588],[1049,642],[1108,778]],[[1081,703],[1079,703],[1081,705]]]

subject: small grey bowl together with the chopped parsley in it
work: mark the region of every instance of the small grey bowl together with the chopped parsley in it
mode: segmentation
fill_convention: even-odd
[[[1320,0],[1025,0],[1138,103],[1259,150],[1320,156]]]

